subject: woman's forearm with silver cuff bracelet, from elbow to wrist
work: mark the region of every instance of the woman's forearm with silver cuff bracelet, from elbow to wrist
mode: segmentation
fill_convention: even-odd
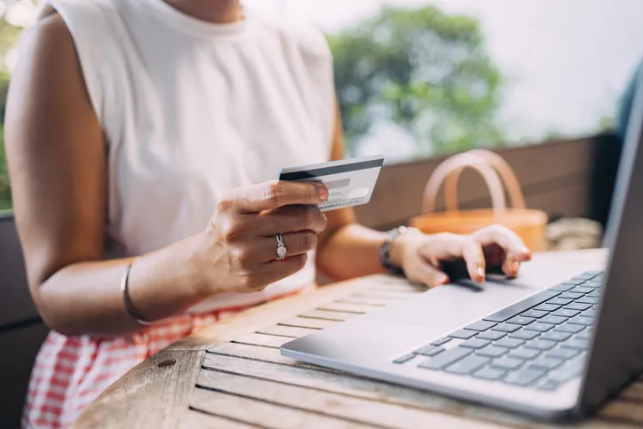
[[[129,295],[141,318],[160,320],[207,295],[194,269],[198,237],[135,259]],[[36,293],[36,305],[52,330],[62,334],[117,336],[140,330],[123,306],[121,282],[132,258],[79,262],[49,277]]]

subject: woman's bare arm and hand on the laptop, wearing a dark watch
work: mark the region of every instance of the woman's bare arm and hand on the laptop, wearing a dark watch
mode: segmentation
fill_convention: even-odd
[[[332,160],[343,159],[344,141],[337,109]],[[345,280],[385,272],[379,250],[387,234],[356,223],[352,208],[326,213],[328,227],[320,234],[317,266],[335,280]],[[483,281],[487,264],[503,266],[504,273],[515,276],[520,262],[531,258],[531,252],[520,238],[502,226],[491,226],[471,235],[405,234],[393,241],[391,261],[400,266],[414,282],[429,286],[449,282],[440,271],[440,261],[464,258],[473,280]]]

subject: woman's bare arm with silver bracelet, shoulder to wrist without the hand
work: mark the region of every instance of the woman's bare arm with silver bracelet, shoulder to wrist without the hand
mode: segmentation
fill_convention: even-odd
[[[105,147],[58,14],[22,39],[5,137],[29,285],[44,321],[68,335],[139,329],[123,310],[119,289],[130,260],[102,260]],[[201,298],[189,269],[193,255],[194,243],[182,242],[139,260],[131,272],[131,300],[141,314],[164,317]]]

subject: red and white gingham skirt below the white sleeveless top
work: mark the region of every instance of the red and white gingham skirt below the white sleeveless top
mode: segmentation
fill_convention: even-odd
[[[314,285],[308,285],[288,296],[313,289]],[[247,308],[250,306],[181,314],[127,337],[66,337],[50,332],[31,372],[22,426],[70,427],[91,401],[139,362]]]

